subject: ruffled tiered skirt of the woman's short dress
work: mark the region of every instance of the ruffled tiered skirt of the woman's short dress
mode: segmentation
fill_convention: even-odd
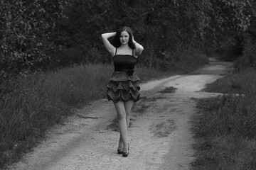
[[[139,77],[137,74],[127,75],[127,72],[113,72],[107,84],[107,99],[109,101],[139,101]]]

